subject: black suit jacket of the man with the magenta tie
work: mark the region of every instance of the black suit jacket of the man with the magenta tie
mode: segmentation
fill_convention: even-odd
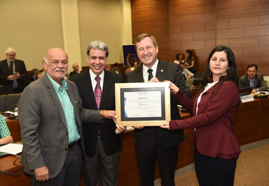
[[[89,70],[70,77],[78,87],[79,95],[84,108],[92,110],[115,110],[115,83],[122,83],[122,75],[105,71],[102,97],[99,109],[97,108],[92,89],[92,81]],[[101,142],[106,155],[116,153],[122,147],[122,137],[116,134],[116,124],[112,119],[105,119],[104,124],[83,123],[85,153],[93,157],[96,151],[98,136],[96,131],[101,131]]]

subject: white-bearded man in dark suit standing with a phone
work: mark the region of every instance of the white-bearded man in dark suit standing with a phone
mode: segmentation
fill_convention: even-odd
[[[5,51],[6,59],[0,61],[1,94],[20,93],[24,89],[23,79],[27,78],[27,70],[22,60],[16,60],[16,51],[9,47]]]

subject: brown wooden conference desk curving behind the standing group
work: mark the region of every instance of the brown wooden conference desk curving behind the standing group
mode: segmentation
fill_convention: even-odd
[[[246,102],[241,108],[237,108],[234,117],[234,130],[239,145],[245,145],[262,139],[269,138],[269,99]],[[192,116],[188,113],[181,113],[182,119]],[[16,140],[20,140],[18,120],[7,121],[8,126],[12,126],[11,134]],[[179,145],[178,161],[176,170],[190,165],[193,160],[193,129],[184,130],[185,140]],[[16,139],[16,140],[15,140]],[[19,141],[18,140],[18,141]],[[119,160],[119,185],[139,185],[139,171],[136,161],[134,130],[125,131],[122,135],[123,148],[120,150]],[[19,171],[12,165],[16,157],[6,156],[0,158],[0,170],[7,172]],[[23,164],[20,165],[23,168]],[[13,173],[14,174],[14,173]],[[156,164],[155,179],[160,178],[159,168]],[[0,173],[0,180],[5,180],[6,185],[30,185],[30,177],[22,172],[18,178]],[[18,181],[17,181],[18,180]],[[1,185],[3,182],[1,181]],[[5,185],[5,184],[4,184]],[[24,184],[23,184],[24,185]],[[83,185],[81,182],[80,185]]]

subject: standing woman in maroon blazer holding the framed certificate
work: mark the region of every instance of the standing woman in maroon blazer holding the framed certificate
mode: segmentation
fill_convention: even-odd
[[[239,105],[238,73],[230,48],[218,46],[207,59],[202,86],[190,101],[170,82],[173,97],[194,117],[161,126],[170,130],[194,128],[194,165],[199,185],[233,185],[241,152],[233,130]]]

